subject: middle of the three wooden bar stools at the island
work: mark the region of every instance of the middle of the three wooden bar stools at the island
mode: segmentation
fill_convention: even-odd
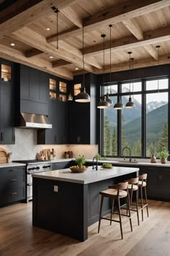
[[[130,192],[130,210],[137,213],[138,225],[139,225],[139,210],[138,210],[138,182],[139,178],[133,178],[128,180],[128,189]],[[135,202],[133,203],[133,192],[135,192]],[[131,208],[131,205],[135,205],[135,209]]]

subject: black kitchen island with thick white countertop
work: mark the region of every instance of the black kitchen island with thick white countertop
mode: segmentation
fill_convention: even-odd
[[[99,191],[138,176],[138,168],[114,167],[73,174],[69,168],[33,174],[32,224],[80,241],[88,238],[88,226],[99,220]],[[109,199],[103,215],[110,211]]]

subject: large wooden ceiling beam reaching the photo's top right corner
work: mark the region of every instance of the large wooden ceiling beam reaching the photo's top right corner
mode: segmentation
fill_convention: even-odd
[[[115,24],[122,22],[133,17],[138,17],[148,12],[153,12],[158,9],[169,6],[169,0],[129,0],[125,3],[117,4],[115,7],[105,9],[102,12],[98,12],[84,20],[84,33],[88,33],[92,30],[96,30],[99,26]],[[68,30],[67,32],[60,33],[58,40],[66,40],[71,37],[82,34],[82,27],[79,29]],[[57,36],[53,35],[48,38],[48,42],[54,42],[57,40]]]

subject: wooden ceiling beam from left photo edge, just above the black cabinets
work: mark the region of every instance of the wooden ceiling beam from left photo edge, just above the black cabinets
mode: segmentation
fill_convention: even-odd
[[[54,74],[58,77],[63,77],[67,80],[73,80],[73,73],[59,68],[53,69],[52,64],[48,61],[44,61],[42,59],[38,59],[37,57],[27,58],[20,51],[17,51],[14,48],[7,47],[4,45],[0,45],[0,56],[1,58],[8,59],[9,61],[15,61],[20,64],[27,65],[29,67],[33,67],[35,69],[40,69],[44,72],[48,72],[49,74]]]

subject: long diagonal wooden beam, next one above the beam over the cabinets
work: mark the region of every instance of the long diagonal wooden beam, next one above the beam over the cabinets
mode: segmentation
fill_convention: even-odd
[[[56,46],[47,43],[46,39],[42,35],[35,33],[28,27],[22,27],[22,29],[15,31],[10,36],[21,41],[22,43],[26,43],[32,48],[37,48],[46,54],[50,54],[56,58],[69,61],[73,64],[76,64],[77,67],[82,67],[82,59],[76,56],[76,54],[73,52],[71,53],[67,49],[62,48],[62,42],[58,45],[58,48],[56,48]],[[89,64],[85,64],[84,68],[89,72],[93,72],[93,67]]]

